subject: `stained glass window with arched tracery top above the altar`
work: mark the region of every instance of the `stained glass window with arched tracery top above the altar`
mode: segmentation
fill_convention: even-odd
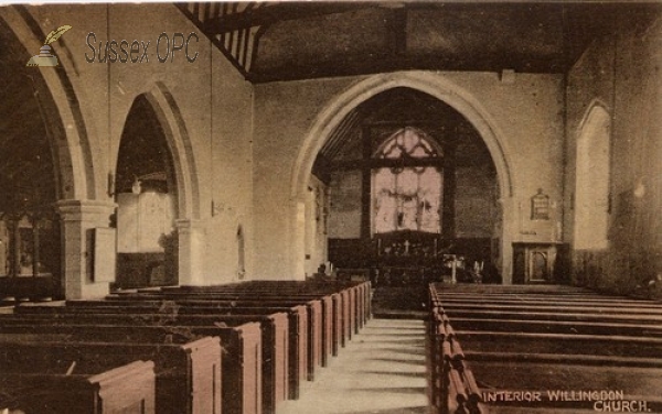
[[[425,132],[404,128],[391,135],[376,152],[376,159],[424,160],[440,157],[440,151]],[[416,165],[373,170],[373,228],[375,233],[441,230],[444,176],[440,167]],[[429,163],[427,163],[429,164]]]

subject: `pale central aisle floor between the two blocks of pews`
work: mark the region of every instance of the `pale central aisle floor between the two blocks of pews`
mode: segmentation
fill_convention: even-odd
[[[427,413],[423,320],[371,319],[278,414]]]

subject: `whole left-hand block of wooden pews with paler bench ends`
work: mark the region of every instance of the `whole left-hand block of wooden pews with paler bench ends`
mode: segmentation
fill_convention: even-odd
[[[0,314],[0,412],[273,414],[371,317],[369,282],[252,281]]]

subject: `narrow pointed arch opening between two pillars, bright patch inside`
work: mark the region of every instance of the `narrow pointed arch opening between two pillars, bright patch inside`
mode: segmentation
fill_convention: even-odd
[[[163,127],[143,95],[127,116],[117,159],[116,288],[178,283],[178,183]]]

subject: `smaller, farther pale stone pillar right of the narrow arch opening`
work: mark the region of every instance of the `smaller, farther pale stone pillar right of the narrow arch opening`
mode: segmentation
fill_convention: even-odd
[[[177,220],[179,241],[179,284],[205,285],[204,253],[206,250],[205,231],[201,220]]]

